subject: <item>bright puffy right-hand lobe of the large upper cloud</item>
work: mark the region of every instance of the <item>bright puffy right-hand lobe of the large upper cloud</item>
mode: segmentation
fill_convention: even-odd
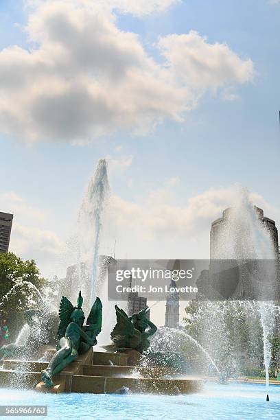
[[[160,38],[159,48],[170,74],[196,92],[217,91],[226,84],[249,82],[253,77],[251,60],[242,60],[226,43],[207,43],[207,38],[196,31]]]

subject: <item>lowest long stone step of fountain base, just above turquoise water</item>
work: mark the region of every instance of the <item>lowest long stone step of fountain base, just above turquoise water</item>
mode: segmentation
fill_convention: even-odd
[[[202,380],[75,375],[72,378],[71,391],[110,394],[118,392],[123,386],[129,388],[132,393],[177,395],[198,392],[202,388]]]

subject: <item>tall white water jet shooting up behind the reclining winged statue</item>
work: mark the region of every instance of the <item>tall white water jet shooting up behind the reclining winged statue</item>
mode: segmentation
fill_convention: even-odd
[[[104,306],[106,318],[102,325],[99,341],[108,341],[108,336],[115,323],[115,303],[125,309],[124,302],[108,301],[107,268],[113,261],[113,257],[100,255],[100,242],[102,236],[102,224],[104,211],[108,204],[110,186],[108,182],[108,163],[100,159],[95,173],[89,180],[89,185],[84,194],[82,205],[78,214],[78,272],[79,290],[82,294],[90,296],[86,309],[93,303],[95,296],[100,296]],[[80,267],[82,261],[86,261],[86,275],[81,276]],[[74,285],[73,290],[76,291]],[[71,296],[73,299],[74,296]]]

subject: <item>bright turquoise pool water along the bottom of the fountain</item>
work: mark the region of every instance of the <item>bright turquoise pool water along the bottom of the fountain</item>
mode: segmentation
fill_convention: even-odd
[[[201,393],[177,396],[51,395],[27,390],[0,389],[0,405],[10,404],[48,406],[47,417],[13,417],[14,419],[279,419],[280,386],[270,387],[269,402],[266,402],[265,386],[259,384],[205,384]]]

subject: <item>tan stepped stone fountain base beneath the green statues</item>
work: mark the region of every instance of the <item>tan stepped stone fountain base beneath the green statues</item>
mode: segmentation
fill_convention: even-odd
[[[128,366],[125,353],[94,352],[90,350],[69,364],[55,377],[54,388],[40,382],[45,362],[4,360],[0,371],[0,387],[36,388],[48,393],[116,393],[122,387],[131,393],[178,395],[201,390],[203,380],[170,377],[170,369],[163,367]],[[113,365],[112,365],[113,363]]]

